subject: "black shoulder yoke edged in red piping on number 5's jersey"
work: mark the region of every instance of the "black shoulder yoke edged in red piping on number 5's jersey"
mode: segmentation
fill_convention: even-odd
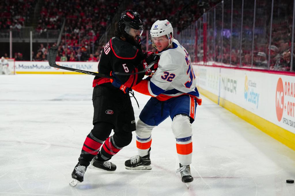
[[[120,59],[134,59],[138,53],[135,46],[118,37],[113,37],[110,42],[114,55]]]

